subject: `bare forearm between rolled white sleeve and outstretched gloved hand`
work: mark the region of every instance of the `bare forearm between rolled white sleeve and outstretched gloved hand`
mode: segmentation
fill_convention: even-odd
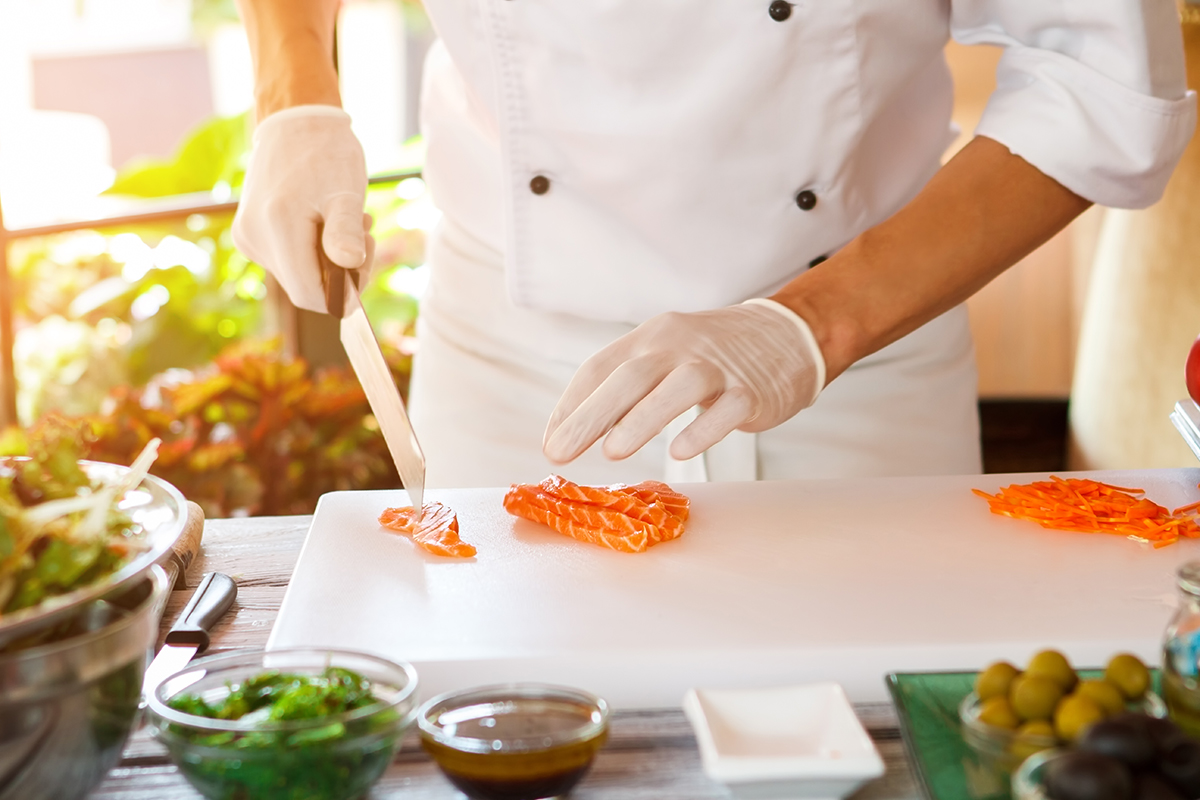
[[[970,297],[1088,205],[976,137],[896,215],[773,299],[809,323],[832,380]]]

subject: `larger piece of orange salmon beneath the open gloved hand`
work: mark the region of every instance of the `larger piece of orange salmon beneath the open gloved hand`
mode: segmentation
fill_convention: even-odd
[[[623,553],[683,535],[689,501],[666,483],[581,486],[551,475],[541,483],[515,483],[504,509],[560,534]]]

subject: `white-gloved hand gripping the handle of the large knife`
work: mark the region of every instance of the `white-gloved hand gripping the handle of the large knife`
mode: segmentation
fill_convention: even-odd
[[[370,270],[374,240],[362,212],[367,168],[350,116],[336,106],[295,106],[254,131],[233,241],[262,264],[300,308],[324,312],[317,224],[329,259]]]

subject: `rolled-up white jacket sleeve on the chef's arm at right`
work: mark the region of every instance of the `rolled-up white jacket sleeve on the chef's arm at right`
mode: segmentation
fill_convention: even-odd
[[[1174,0],[952,0],[950,32],[1004,48],[977,134],[1100,205],[1162,197],[1196,119]]]

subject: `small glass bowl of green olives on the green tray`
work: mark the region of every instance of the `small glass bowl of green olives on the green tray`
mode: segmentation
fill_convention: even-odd
[[[1127,711],[1166,716],[1150,684],[1150,670],[1130,654],[1114,656],[1096,676],[1078,673],[1057,650],[1036,654],[1024,670],[997,661],[979,673],[959,705],[962,739],[984,764],[1012,772],[1103,720]]]

